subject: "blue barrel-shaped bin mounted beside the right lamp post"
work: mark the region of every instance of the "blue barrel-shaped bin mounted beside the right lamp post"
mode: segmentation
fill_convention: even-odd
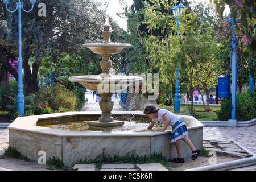
[[[230,77],[218,77],[218,97],[230,97]]]

